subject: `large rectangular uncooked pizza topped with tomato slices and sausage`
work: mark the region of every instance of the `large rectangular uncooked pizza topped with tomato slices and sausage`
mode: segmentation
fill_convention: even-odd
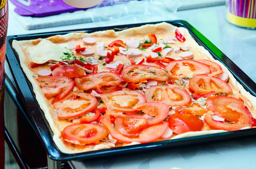
[[[253,128],[256,98],[169,23],[13,40],[64,153]]]

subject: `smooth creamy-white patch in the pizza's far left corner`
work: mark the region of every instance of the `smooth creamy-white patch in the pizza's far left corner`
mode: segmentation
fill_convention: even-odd
[[[63,53],[69,51],[67,44],[56,45],[49,40],[42,40],[38,45],[29,47],[31,61],[45,63],[49,60],[62,61]]]

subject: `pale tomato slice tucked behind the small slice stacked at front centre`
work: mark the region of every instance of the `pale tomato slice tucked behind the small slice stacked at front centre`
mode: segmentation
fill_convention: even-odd
[[[148,119],[149,125],[162,123],[169,114],[169,108],[163,102],[138,103],[133,109],[142,111],[142,116]]]

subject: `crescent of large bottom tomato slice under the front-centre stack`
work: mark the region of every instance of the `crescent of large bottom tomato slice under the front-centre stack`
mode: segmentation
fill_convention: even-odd
[[[121,116],[121,115],[118,113],[107,112],[105,115],[102,116],[102,118],[100,119],[100,122],[104,124],[104,126],[108,129],[108,131],[110,132],[113,138],[117,139],[119,142],[122,142],[122,143],[131,143],[131,142],[148,143],[148,142],[155,141],[165,133],[168,127],[168,123],[163,122],[160,124],[150,126],[140,131],[139,135],[135,138],[129,138],[121,134],[119,131],[117,131],[113,127],[112,123],[110,122],[111,116]]]

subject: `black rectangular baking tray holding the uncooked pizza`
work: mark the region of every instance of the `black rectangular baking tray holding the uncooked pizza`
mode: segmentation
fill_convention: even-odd
[[[237,81],[242,84],[242,86],[250,92],[253,96],[256,96],[256,84],[249,78],[238,66],[236,66],[225,54],[223,54],[216,46],[214,46],[207,38],[205,38],[199,31],[197,31],[191,24],[182,20],[175,21],[164,21],[171,23],[177,27],[185,27],[188,29],[195,41],[200,45],[204,46],[205,49],[218,61],[222,62]],[[160,22],[152,23],[137,23],[128,25],[118,25],[118,26],[108,26],[108,27],[98,27],[80,30],[70,30],[70,31],[56,31],[47,33],[37,33],[37,34],[27,34],[27,35],[15,35],[8,36],[7,38],[7,61],[14,77],[20,99],[22,100],[24,107],[26,108],[27,114],[35,128],[37,135],[40,138],[45,150],[47,151],[49,157],[56,161],[67,161],[67,160],[77,160],[77,159],[91,159],[98,157],[109,157],[112,155],[120,154],[133,154],[145,151],[152,151],[157,149],[166,149],[177,146],[188,146],[203,142],[212,142],[216,140],[238,138],[248,135],[256,134],[256,129],[246,129],[240,131],[229,131],[223,133],[216,133],[210,135],[194,136],[189,138],[179,138],[173,140],[157,141],[151,143],[144,143],[133,146],[123,146],[115,147],[97,151],[90,151],[77,154],[65,154],[59,151],[53,141],[53,132],[51,131],[47,120],[45,119],[44,113],[39,107],[38,102],[35,99],[35,95],[32,91],[32,86],[24,72],[22,71],[18,55],[16,51],[12,48],[12,41],[16,40],[30,40],[37,38],[48,38],[57,34],[66,34],[73,31],[80,32],[95,32],[113,29],[115,31],[120,31],[128,28],[138,27],[144,24],[156,24]]]

